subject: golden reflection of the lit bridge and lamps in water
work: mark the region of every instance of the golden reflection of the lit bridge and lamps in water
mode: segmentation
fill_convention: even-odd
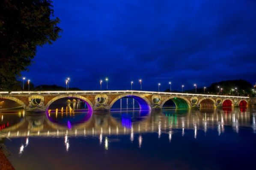
[[[104,140],[108,148],[110,135],[128,135],[131,142],[134,134],[139,134],[139,147],[145,133],[186,135],[187,130],[217,130],[216,135],[225,132],[226,127],[239,133],[240,127],[252,128],[256,132],[256,113],[250,114],[246,108],[230,109],[170,109],[162,111],[111,111],[93,113],[92,111],[48,111],[46,114],[26,114],[24,111],[0,113],[0,138],[63,137],[68,150],[68,137],[93,136]],[[24,145],[22,145],[24,147]],[[22,150],[22,149],[21,149]]]

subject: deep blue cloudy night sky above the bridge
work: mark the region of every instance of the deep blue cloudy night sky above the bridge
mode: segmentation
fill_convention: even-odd
[[[39,47],[35,85],[161,91],[228,79],[256,81],[255,0],[53,0],[63,29]],[[106,83],[103,83],[103,89]]]

